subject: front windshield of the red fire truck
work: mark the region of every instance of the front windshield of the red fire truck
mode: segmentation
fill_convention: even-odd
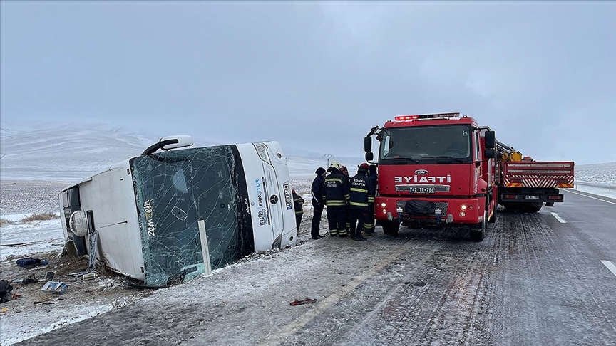
[[[392,164],[399,163],[401,159],[416,163],[470,163],[471,133],[468,125],[384,129],[380,136],[379,161]]]

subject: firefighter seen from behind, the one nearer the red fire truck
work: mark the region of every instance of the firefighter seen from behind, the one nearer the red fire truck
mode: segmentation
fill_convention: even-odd
[[[368,180],[368,164],[360,164],[357,174],[349,181],[349,205],[351,211],[351,238],[354,241],[365,241],[361,229],[368,214],[368,196],[373,195],[372,185]]]

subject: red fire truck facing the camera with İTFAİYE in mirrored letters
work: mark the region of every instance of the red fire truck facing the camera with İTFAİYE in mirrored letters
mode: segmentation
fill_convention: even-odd
[[[496,138],[475,119],[449,112],[402,115],[364,138],[380,142],[375,219],[385,234],[405,226],[466,226],[483,241],[497,206]]]

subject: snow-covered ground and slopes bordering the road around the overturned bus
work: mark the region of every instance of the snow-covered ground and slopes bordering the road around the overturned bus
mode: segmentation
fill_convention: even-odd
[[[59,251],[63,238],[59,218],[49,221],[21,220],[34,213],[57,211],[57,192],[63,186],[101,171],[109,164],[138,155],[153,142],[139,135],[106,127],[75,127],[67,130],[48,125],[30,132],[16,130],[14,127],[9,131],[2,127],[0,219],[5,221],[0,226],[0,261],[6,263],[16,256],[36,256],[36,253]],[[307,157],[301,157],[294,156],[302,154],[299,150],[289,152],[292,153],[288,160],[292,187],[309,201],[314,170],[325,167],[327,160],[319,157],[319,154],[310,153]],[[347,165],[351,174],[355,172],[356,165],[361,163],[361,157],[334,159]],[[616,198],[616,162],[578,166],[576,179],[586,183],[576,184],[575,189],[578,191]],[[304,206],[306,214],[302,224],[303,232],[298,235],[300,245],[309,238],[307,224],[312,215],[309,202]],[[7,279],[10,281],[13,278]],[[104,290],[111,283],[98,281],[93,285]],[[131,299],[138,299],[130,297],[118,296],[116,300],[109,298],[100,308],[88,305],[89,313],[88,309],[84,310],[83,304],[64,305],[61,311],[55,309],[53,314],[56,315],[51,317],[48,313],[33,313],[19,320],[19,316],[3,312],[0,315],[0,343],[9,345],[26,340],[56,327],[125,305]],[[55,308],[60,308],[60,305]]]

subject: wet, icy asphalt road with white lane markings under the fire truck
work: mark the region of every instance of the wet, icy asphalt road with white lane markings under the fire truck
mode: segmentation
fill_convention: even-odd
[[[467,236],[309,241],[22,344],[615,345],[616,200],[565,192]]]

